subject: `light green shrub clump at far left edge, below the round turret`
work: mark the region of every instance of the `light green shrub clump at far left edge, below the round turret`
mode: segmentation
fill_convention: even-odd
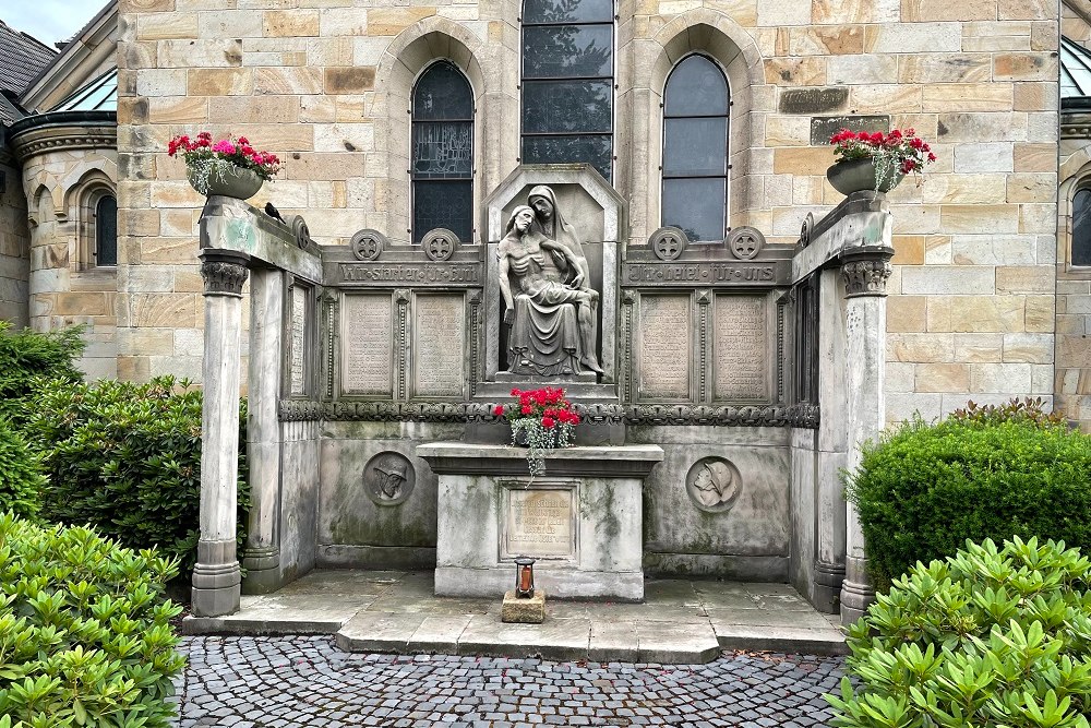
[[[22,419],[26,398],[49,380],[79,382],[83,374],[72,363],[83,354],[83,326],[38,333],[12,331],[0,321],[0,414]]]

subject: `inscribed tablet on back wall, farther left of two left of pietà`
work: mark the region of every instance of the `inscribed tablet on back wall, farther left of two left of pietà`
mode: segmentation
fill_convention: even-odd
[[[389,294],[352,295],[341,307],[341,391],[394,396]]]

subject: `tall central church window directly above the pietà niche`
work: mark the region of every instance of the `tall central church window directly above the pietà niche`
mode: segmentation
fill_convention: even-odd
[[[526,0],[523,156],[613,172],[613,0]]]

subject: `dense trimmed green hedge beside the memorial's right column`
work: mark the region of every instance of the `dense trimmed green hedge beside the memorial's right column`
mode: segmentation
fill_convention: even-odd
[[[967,540],[1038,536],[1091,552],[1091,438],[1062,425],[918,418],[865,445],[847,481],[880,589]]]

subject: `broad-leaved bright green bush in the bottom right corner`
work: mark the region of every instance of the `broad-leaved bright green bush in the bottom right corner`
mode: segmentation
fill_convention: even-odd
[[[1089,728],[1091,561],[1036,539],[918,564],[849,630],[840,728]]]

